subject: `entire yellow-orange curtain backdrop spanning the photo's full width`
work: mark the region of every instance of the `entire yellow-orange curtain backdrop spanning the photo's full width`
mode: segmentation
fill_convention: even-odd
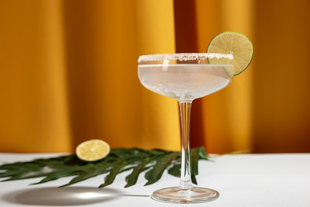
[[[178,104],[143,88],[140,55],[205,52],[233,30],[250,67],[195,100],[192,146],[310,152],[309,0],[0,0],[0,151],[180,149]]]

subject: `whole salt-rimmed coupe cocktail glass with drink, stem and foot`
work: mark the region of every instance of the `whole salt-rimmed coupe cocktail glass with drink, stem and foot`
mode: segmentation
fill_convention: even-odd
[[[218,64],[208,64],[208,59]],[[193,100],[226,87],[233,77],[232,55],[180,53],[140,56],[138,77],[147,89],[179,102],[181,117],[181,178],[178,187],[155,191],[151,198],[166,203],[204,203],[217,191],[194,187],[191,179],[190,117]]]

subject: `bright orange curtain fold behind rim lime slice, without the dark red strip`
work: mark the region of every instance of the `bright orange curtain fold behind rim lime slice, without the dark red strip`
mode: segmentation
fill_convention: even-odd
[[[253,0],[196,0],[196,10],[198,52],[205,52],[212,37],[224,31],[242,32],[255,44]],[[252,150],[254,70],[252,64],[229,87],[201,99],[208,152]]]

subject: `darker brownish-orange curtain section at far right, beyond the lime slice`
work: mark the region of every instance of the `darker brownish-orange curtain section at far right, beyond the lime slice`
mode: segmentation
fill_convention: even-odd
[[[310,1],[256,1],[254,152],[310,152]]]

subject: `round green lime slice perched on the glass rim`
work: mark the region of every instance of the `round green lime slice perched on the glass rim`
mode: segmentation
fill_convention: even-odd
[[[234,75],[240,74],[248,68],[253,58],[252,42],[242,33],[223,32],[211,40],[207,47],[207,53],[231,54],[234,59]],[[221,59],[208,59],[210,64],[225,64]]]

